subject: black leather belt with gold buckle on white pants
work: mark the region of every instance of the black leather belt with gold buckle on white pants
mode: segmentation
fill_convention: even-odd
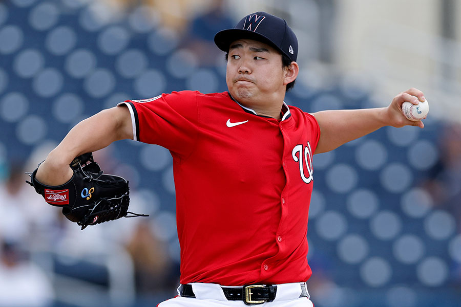
[[[307,297],[309,294],[305,284],[300,284],[301,295]],[[247,284],[243,287],[228,288],[221,287],[222,292],[227,300],[243,300],[246,305],[258,305],[265,302],[271,302],[275,299],[277,286],[271,284]],[[181,284],[180,293],[182,297],[195,298],[192,284]]]

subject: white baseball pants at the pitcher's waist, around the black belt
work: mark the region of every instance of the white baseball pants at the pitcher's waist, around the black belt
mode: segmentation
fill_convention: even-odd
[[[180,297],[166,300],[158,307],[248,307],[243,301],[229,301],[224,296],[221,286],[216,283],[191,283],[196,298]],[[265,307],[313,307],[307,297],[301,295],[300,283],[277,284],[274,301],[254,306]]]

